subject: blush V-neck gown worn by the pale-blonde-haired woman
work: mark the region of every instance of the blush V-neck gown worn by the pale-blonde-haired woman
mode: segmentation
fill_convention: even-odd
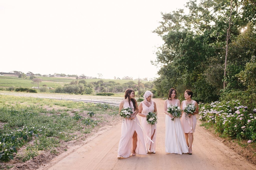
[[[154,102],[152,101],[150,107],[147,107],[146,104],[144,104],[144,102],[142,102],[142,114],[147,115],[148,112],[154,112]],[[146,145],[146,150],[148,152],[154,152],[156,150],[156,124],[151,125],[147,123],[147,118],[146,117],[141,117],[141,126],[143,127],[143,131],[144,131],[144,141],[145,141],[145,145]],[[155,131],[155,133],[154,133]],[[151,136],[154,136],[152,138],[152,141],[154,143],[152,143],[148,137],[151,139]]]

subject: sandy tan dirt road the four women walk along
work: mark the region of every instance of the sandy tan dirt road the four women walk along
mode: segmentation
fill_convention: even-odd
[[[40,169],[256,169],[197,123],[193,154],[165,153],[164,100],[154,99],[158,112],[156,153],[117,159],[121,122],[95,135],[72,152],[52,159]],[[138,116],[139,118],[140,116]]]

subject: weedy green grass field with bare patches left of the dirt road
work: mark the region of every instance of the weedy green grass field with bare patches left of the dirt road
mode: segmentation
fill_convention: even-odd
[[[65,152],[73,143],[68,141],[85,140],[85,134],[121,120],[118,107],[109,104],[9,95],[0,95],[0,112],[0,160],[14,159],[14,166],[49,151]]]

